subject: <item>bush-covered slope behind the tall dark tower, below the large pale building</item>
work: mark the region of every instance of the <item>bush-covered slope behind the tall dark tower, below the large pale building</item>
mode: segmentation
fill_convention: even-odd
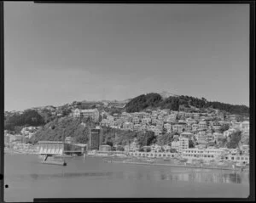
[[[83,125],[85,124],[85,126]],[[65,138],[74,138],[75,143],[86,144],[89,140],[90,127],[95,127],[88,119],[63,117],[50,121],[31,138],[30,142],[37,143],[40,140],[62,141]],[[137,138],[138,144],[147,145],[156,142],[153,132],[130,132],[110,127],[102,128],[102,144],[125,145]]]

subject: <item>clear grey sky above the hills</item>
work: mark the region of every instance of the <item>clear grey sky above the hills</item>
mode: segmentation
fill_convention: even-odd
[[[167,91],[249,105],[247,4],[4,2],[5,110]]]

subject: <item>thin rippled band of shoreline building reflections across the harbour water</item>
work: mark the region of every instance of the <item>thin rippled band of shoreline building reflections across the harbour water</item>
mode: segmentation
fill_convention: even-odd
[[[108,178],[108,179],[125,179],[125,180],[168,180],[168,181],[185,181],[193,183],[242,183],[248,182],[248,174],[242,174],[237,172],[165,172],[165,171],[154,171],[154,172],[60,172],[54,174],[27,174],[18,175],[18,178],[32,178],[33,180],[40,179],[52,179],[52,178]]]

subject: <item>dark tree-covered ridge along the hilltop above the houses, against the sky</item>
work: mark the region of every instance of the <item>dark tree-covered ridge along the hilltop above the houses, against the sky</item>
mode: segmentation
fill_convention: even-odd
[[[198,99],[183,95],[178,97],[170,96],[164,99],[159,93],[148,93],[137,96],[125,105],[125,110],[127,112],[138,112],[148,108],[179,110],[180,107],[190,108],[191,106],[199,109],[212,108],[223,110],[230,114],[249,116],[249,108],[246,105],[224,104],[217,101],[211,102],[204,98]]]

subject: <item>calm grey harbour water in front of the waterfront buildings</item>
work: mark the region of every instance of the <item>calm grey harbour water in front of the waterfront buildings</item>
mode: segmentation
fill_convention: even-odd
[[[101,197],[243,197],[248,173],[170,166],[106,163],[67,158],[67,166],[44,165],[37,155],[5,155],[4,200]]]

